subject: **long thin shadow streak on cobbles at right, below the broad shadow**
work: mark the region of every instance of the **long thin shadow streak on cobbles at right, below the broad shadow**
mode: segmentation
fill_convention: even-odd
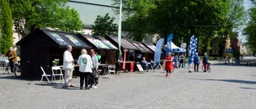
[[[195,79],[195,80],[212,80],[212,81],[239,83],[239,84],[256,84],[256,81],[249,81],[249,80],[214,80],[214,79]]]

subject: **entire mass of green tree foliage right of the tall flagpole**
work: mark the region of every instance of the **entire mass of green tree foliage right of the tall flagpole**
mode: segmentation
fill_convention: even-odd
[[[113,1],[119,6],[120,0]],[[224,36],[225,42],[226,36],[235,36],[234,28],[245,21],[243,0],[126,0],[122,7],[126,17],[122,28],[128,29],[134,40],[142,41],[146,33],[164,38],[174,33],[175,44],[189,44],[194,35],[198,46],[205,45],[208,50],[214,37]]]

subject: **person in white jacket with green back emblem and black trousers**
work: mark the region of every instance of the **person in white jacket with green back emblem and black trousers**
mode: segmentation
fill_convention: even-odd
[[[88,84],[90,75],[93,72],[93,63],[90,55],[87,54],[86,49],[81,50],[81,55],[78,57],[78,65],[80,72],[80,89],[82,89],[83,84],[85,83],[85,89],[88,90],[90,89]]]

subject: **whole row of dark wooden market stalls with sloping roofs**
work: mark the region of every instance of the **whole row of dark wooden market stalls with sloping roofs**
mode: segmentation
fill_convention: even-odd
[[[82,33],[75,34],[37,28],[18,41],[16,45],[19,45],[21,49],[22,77],[27,79],[40,78],[42,75],[40,67],[45,68],[46,73],[51,72],[54,59],[59,59],[58,65],[62,65],[63,53],[67,45],[73,47],[74,59],[78,59],[81,49],[87,49],[87,51],[95,49],[102,56],[102,63],[116,64],[118,60],[118,37],[93,37]],[[132,52],[134,56],[141,53],[147,60],[154,59],[155,45],[153,44],[128,41],[122,38],[121,49],[122,53]]]

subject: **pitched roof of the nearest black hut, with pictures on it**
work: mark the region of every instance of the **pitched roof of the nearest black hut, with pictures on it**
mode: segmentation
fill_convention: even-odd
[[[83,42],[77,35],[74,33],[61,32],[50,29],[34,29],[31,33],[22,38],[21,41],[18,41],[16,45],[23,45],[30,41],[34,40],[33,45],[40,46],[58,46],[66,48],[67,45],[71,45],[74,48],[85,48],[90,49],[91,47]],[[50,39],[50,40],[46,40]],[[45,42],[49,41],[49,42]]]

